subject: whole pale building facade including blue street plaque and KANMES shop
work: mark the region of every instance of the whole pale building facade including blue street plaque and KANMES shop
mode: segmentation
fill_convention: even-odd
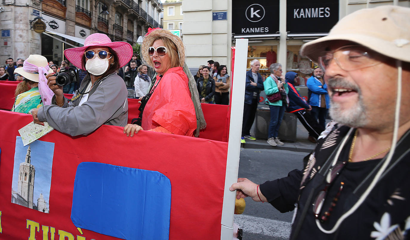
[[[410,7],[410,1],[212,0],[198,4],[196,0],[183,0],[187,64],[198,68],[212,59],[230,69],[230,47],[235,45],[235,39],[248,38],[247,70],[250,62],[258,59],[260,72],[267,75],[270,64],[278,62],[287,71],[310,76],[314,63],[299,55],[301,46],[326,36],[347,14],[380,5]]]

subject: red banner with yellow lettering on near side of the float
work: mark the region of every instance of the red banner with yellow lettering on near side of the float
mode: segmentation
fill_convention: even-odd
[[[203,105],[204,111],[207,105],[211,104]],[[226,126],[226,108],[211,106],[216,113],[207,118],[207,131],[219,135],[221,132],[213,126]],[[222,113],[225,115],[219,120],[214,117]],[[71,221],[74,179],[82,162],[164,174],[172,189],[169,239],[220,239],[228,143],[150,131],[131,138],[123,134],[122,127],[106,125],[88,136],[71,137],[53,130],[39,139],[54,143],[49,213],[43,213],[11,203],[16,136],[32,116],[0,111],[0,117],[0,239],[117,239],[77,229]],[[115,196],[112,199],[113,203],[123,201]]]

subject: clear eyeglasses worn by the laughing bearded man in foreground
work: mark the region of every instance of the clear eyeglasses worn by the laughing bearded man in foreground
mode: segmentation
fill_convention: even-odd
[[[331,52],[322,52],[318,61],[324,70],[330,66],[330,63],[334,59],[337,65],[343,70],[353,71],[379,64],[380,61],[376,60],[373,55],[374,52],[363,46],[346,45]]]

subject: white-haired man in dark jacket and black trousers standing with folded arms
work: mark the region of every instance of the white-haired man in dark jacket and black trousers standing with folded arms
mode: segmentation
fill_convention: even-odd
[[[256,59],[251,61],[251,70],[246,72],[245,83],[245,104],[244,104],[244,118],[242,121],[242,136],[241,143],[245,143],[245,138],[249,140],[256,140],[250,134],[257,104],[259,102],[259,93],[263,90],[262,76],[259,73],[260,63]]]

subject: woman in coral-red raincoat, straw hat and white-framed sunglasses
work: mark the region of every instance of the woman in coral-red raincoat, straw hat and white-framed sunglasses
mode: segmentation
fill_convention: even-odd
[[[198,136],[206,126],[194,77],[185,64],[181,38],[169,30],[148,29],[141,46],[142,61],[157,72],[141,100],[140,124],[128,124],[127,136],[140,130]],[[184,68],[183,68],[184,67]],[[144,107],[145,105],[145,107]]]

